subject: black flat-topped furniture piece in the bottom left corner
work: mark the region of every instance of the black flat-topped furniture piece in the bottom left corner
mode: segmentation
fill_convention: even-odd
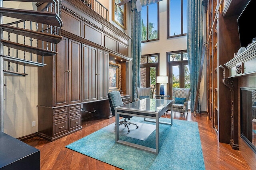
[[[40,170],[40,150],[0,131],[1,170]]]

